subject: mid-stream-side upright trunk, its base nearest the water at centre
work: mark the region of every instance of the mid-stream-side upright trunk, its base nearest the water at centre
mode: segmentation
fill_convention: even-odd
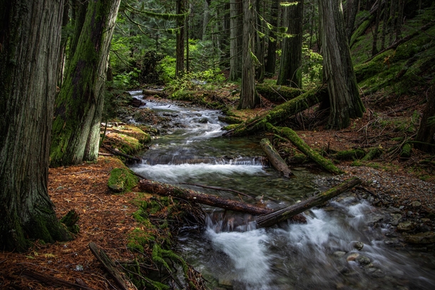
[[[240,103],[237,109],[252,109],[260,103],[260,97],[255,92],[254,7],[255,0],[243,2],[242,84],[240,86]]]

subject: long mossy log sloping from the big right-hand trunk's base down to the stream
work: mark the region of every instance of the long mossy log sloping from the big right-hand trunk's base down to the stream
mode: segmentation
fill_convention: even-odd
[[[287,118],[290,118],[290,116],[300,113],[302,110],[306,110],[307,108],[322,102],[322,100],[327,100],[327,98],[328,95],[326,88],[310,90],[297,98],[278,105],[265,115],[258,116],[257,118],[247,120],[245,123],[237,125],[235,128],[232,128],[232,130],[227,131],[223,135],[242,136],[267,130],[267,123],[277,125]]]

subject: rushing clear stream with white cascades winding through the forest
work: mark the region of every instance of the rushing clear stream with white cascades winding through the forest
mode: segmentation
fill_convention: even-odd
[[[143,162],[131,167],[150,180],[231,199],[239,197],[195,185],[237,190],[255,197],[253,203],[280,208],[326,190],[321,181],[337,178],[300,167],[292,168],[294,178],[283,179],[262,164],[260,138],[221,136],[226,124],[219,111],[145,101],[171,122]],[[309,210],[307,224],[270,229],[258,229],[249,214],[203,208],[206,229],[186,228],[178,240],[210,289],[435,289],[433,254],[406,249],[383,222],[389,213],[352,194]]]

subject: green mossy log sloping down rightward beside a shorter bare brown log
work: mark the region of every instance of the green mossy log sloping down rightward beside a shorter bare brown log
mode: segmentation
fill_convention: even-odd
[[[312,160],[317,162],[320,166],[322,166],[325,170],[334,173],[334,174],[342,174],[344,173],[342,170],[340,170],[337,166],[335,166],[330,160],[327,160],[326,158],[322,157],[318,152],[313,150],[311,147],[305,143],[304,140],[302,140],[295,131],[293,131],[290,128],[277,128],[272,125],[269,125],[270,130],[272,130],[275,134],[280,135],[283,138],[287,138],[288,140],[292,141],[293,144],[299,149],[302,153],[310,157]]]

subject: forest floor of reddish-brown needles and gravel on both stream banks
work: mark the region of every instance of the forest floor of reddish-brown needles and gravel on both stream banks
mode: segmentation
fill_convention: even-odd
[[[222,92],[222,95],[229,94]],[[367,112],[345,130],[324,129],[327,115],[314,110],[291,118],[289,125],[308,145],[325,152],[327,149],[339,151],[354,147],[382,148],[387,153],[369,162],[339,162],[337,166],[346,174],[323,179],[324,187],[357,176],[362,179],[364,190],[371,193],[374,205],[401,214],[401,221],[411,219],[416,227],[414,231],[431,232],[435,227],[434,156],[413,150],[411,157],[401,159],[399,149],[394,149],[402,142],[397,137],[416,133],[416,116],[424,108],[424,98],[424,94],[419,100],[380,94],[363,97]],[[235,113],[252,116],[272,108],[266,100],[263,105],[256,110]],[[63,217],[75,209],[80,216],[80,233],[71,242],[44,244],[37,241],[26,253],[0,253],[1,289],[56,288],[35,279],[26,279],[26,271],[44,273],[82,286],[84,283],[91,289],[113,289],[115,281],[93,256],[88,244],[98,244],[116,260],[134,259],[127,243],[133,229],[141,227],[132,216],[137,210],[133,200],[138,197],[138,188],[114,195],[107,186],[111,170],[122,166],[116,157],[100,156],[97,162],[49,170],[48,192],[56,206],[56,214]],[[312,164],[302,166],[319,170]],[[431,247],[425,249],[429,251]],[[57,286],[56,289],[71,289],[71,286]]]

